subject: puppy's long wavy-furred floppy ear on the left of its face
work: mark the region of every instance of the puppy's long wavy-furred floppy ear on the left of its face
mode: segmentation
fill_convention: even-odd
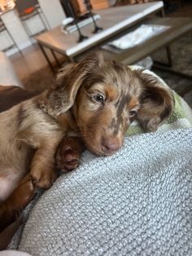
[[[68,64],[60,69],[55,84],[44,93],[44,97],[39,101],[40,108],[52,116],[68,111],[85,78],[101,63],[103,63],[103,55],[95,53],[78,64]]]

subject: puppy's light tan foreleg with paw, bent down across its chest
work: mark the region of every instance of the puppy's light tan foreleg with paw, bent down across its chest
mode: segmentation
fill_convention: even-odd
[[[55,152],[61,138],[41,143],[33,157],[30,174],[37,188],[50,188],[58,177],[55,170]]]

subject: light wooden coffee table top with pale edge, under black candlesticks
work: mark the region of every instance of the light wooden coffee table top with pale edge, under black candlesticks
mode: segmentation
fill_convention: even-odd
[[[61,27],[51,29],[46,33],[41,33],[37,36],[37,42],[41,47],[41,51],[46,57],[46,60],[50,64],[50,68],[53,66],[46,54],[45,48],[48,48],[55,57],[55,52],[65,55],[68,60],[74,60],[77,55],[88,51],[89,49],[101,45],[103,42],[107,42],[118,33],[123,32],[125,29],[133,26],[133,24],[144,20],[146,16],[151,15],[154,12],[162,11],[163,2],[149,2],[139,5],[131,5],[124,7],[111,7],[101,11],[97,11],[101,15],[101,19],[97,20],[99,27],[103,28],[103,31],[97,34],[93,34],[93,24],[86,25],[81,29],[81,32],[89,38],[83,42],[78,41],[78,33],[64,34],[61,32]]]

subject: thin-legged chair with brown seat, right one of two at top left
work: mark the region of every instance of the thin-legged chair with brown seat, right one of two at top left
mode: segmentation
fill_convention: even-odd
[[[20,20],[24,25],[24,29],[26,33],[28,34],[29,38],[33,38],[35,35],[42,33],[45,30],[50,29],[50,25],[48,24],[46,20],[46,16],[44,15],[43,11],[41,10],[41,7],[37,0],[16,0],[15,1],[15,7],[18,11],[18,14],[20,16]],[[39,18],[41,20],[41,24],[43,25],[44,29],[41,29],[41,31],[38,31],[37,33],[32,33],[31,29],[29,28],[27,24],[27,20],[33,18],[35,15],[39,15]]]

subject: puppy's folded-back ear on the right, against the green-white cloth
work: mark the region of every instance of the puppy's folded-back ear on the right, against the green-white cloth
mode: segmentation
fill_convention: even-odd
[[[160,80],[152,74],[138,71],[142,86],[141,108],[137,120],[144,130],[157,128],[170,117],[174,108],[172,90],[162,86]]]

